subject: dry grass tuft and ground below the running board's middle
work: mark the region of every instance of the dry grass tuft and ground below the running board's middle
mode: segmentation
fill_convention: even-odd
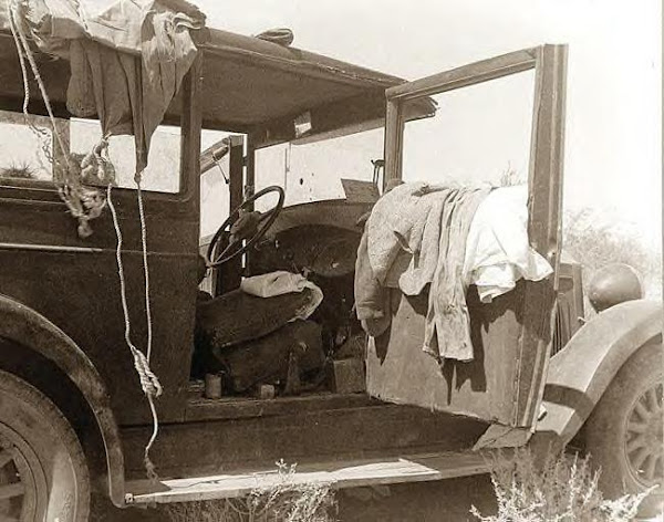
[[[295,464],[277,462],[279,481],[240,499],[187,502],[166,508],[172,521],[333,522],[336,500],[331,484],[298,483]]]

